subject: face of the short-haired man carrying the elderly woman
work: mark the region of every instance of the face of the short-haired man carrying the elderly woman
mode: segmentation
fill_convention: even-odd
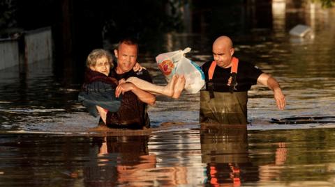
[[[119,49],[114,50],[117,57],[117,71],[118,73],[126,73],[133,69],[137,59],[137,46],[122,43]]]

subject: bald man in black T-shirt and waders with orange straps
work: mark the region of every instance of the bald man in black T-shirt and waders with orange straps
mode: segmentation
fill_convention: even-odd
[[[257,83],[273,90],[278,109],[285,108],[285,96],[276,79],[234,57],[228,36],[217,38],[212,51],[214,60],[202,65],[206,90],[200,91],[200,122],[248,124],[248,90]]]

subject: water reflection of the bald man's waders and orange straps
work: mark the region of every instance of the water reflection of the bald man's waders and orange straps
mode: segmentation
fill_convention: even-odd
[[[241,186],[258,181],[257,167],[248,158],[246,125],[207,125],[200,130],[202,163],[211,186]]]

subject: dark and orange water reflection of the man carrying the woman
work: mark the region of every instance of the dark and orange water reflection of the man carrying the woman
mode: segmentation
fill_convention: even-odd
[[[149,136],[94,138],[96,160],[84,167],[85,186],[152,186],[147,170],[156,168],[156,156],[149,154]]]

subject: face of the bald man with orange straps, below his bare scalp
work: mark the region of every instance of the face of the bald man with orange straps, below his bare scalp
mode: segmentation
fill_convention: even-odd
[[[219,67],[230,67],[232,54],[234,54],[234,49],[225,44],[213,45],[213,57]]]

